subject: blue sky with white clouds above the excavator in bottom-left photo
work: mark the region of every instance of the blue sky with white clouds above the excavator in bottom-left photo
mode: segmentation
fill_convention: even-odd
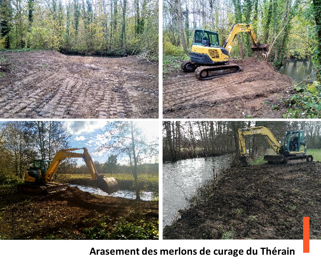
[[[86,147],[93,161],[105,162],[110,153],[108,151],[98,151],[100,145],[106,142],[100,128],[103,128],[106,121],[64,121],[69,133],[71,146],[74,148]],[[138,126],[146,133],[147,137],[158,136],[158,121],[137,121]],[[82,150],[75,151],[82,153]],[[120,164],[126,164],[127,158],[118,158]],[[155,160],[153,160],[155,162]],[[78,164],[84,164],[82,159],[78,160]]]

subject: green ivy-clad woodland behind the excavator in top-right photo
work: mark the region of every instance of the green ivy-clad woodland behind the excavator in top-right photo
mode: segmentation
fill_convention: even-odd
[[[163,1],[163,54],[189,53],[195,29],[216,31],[222,45],[235,23],[251,23],[265,58],[276,69],[286,58],[313,59],[321,66],[321,0],[166,0]],[[253,56],[248,34],[239,34],[231,56]],[[237,44],[237,42],[235,43]],[[182,48],[179,48],[182,47]],[[187,59],[188,60],[188,59]],[[320,75],[317,77],[320,81]]]

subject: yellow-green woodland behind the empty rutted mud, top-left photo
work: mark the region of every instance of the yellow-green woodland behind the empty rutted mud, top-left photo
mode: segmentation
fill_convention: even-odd
[[[0,0],[0,50],[130,55],[158,61],[158,1]]]

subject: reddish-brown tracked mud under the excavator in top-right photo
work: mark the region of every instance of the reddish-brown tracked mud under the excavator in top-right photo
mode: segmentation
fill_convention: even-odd
[[[244,71],[201,81],[182,70],[163,76],[163,118],[282,118],[292,81],[255,58],[233,60]]]

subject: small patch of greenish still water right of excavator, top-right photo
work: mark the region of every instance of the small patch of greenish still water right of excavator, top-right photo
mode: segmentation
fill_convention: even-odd
[[[312,72],[312,74],[311,74]],[[313,63],[311,60],[293,60],[286,61],[280,69],[280,73],[288,75],[292,79],[301,82],[310,74],[308,81],[316,80],[316,73],[313,71]]]

